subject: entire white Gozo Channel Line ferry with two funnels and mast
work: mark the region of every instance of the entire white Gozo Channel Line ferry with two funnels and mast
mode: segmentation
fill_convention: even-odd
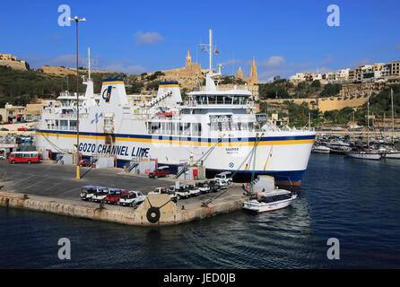
[[[36,129],[37,148],[53,153],[76,153],[84,157],[115,156],[118,167],[130,162],[157,159],[159,165],[204,166],[207,176],[222,171],[239,180],[251,175],[274,176],[277,184],[299,186],[307,169],[315,132],[267,122],[254,113],[247,88],[220,91],[213,77],[210,30],[210,68],[205,86],[182,100],[177,82],[161,83],[158,94],[142,104],[130,104],[122,79],[106,79],[100,95],[87,85],[76,105],[76,94],[61,94],[60,107],[48,106]],[[77,129],[79,109],[79,130]],[[79,133],[78,133],[79,131]]]

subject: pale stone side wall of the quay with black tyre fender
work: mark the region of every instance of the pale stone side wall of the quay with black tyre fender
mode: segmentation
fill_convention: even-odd
[[[238,187],[231,188],[236,189]],[[227,193],[229,192],[227,191]],[[175,225],[204,219],[220,213],[230,213],[241,209],[243,203],[248,200],[248,196],[234,196],[231,200],[226,200],[225,198],[223,201],[218,199],[207,207],[202,207],[200,204],[196,204],[196,206],[188,204],[187,208],[182,209],[181,206],[169,202],[170,197],[168,195],[148,195],[145,202],[136,210],[126,208],[126,211],[120,211],[107,204],[104,204],[104,208],[100,208],[100,204],[90,203],[92,204],[90,206],[88,203],[80,203],[74,200],[0,192],[0,205],[4,207],[29,209],[44,213],[135,226]],[[160,209],[161,216],[159,221],[155,223],[149,222],[147,219],[149,208],[163,204],[165,205]]]

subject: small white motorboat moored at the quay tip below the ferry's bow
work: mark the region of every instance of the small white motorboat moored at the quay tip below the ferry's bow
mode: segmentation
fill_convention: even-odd
[[[284,189],[263,192],[260,193],[259,196],[263,197],[245,202],[243,204],[243,209],[257,213],[272,212],[289,206],[291,202],[297,198],[297,195]]]

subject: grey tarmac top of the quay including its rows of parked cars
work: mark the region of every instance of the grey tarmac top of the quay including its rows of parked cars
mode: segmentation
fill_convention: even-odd
[[[178,210],[202,208],[202,204],[214,196],[218,196],[216,203],[229,204],[243,195],[241,187],[229,188],[229,192],[224,194],[226,189],[222,190],[213,180],[198,181],[196,185],[193,185],[193,181],[181,180],[176,188],[177,179],[173,177],[154,179],[114,168],[93,169],[83,178],[75,179],[74,166],[46,162],[11,165],[0,161],[0,177],[3,178],[0,194],[14,192],[30,197],[45,196],[55,204],[72,202],[88,208],[99,208],[102,205],[103,209],[122,212],[140,206],[149,193],[169,195]],[[139,197],[140,200],[135,201]]]

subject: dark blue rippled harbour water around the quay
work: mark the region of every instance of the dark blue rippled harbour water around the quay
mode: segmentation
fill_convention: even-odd
[[[0,207],[0,268],[398,268],[399,170],[398,160],[312,154],[289,208],[161,228]],[[71,260],[58,259],[60,238]],[[329,238],[338,260],[326,257]]]

